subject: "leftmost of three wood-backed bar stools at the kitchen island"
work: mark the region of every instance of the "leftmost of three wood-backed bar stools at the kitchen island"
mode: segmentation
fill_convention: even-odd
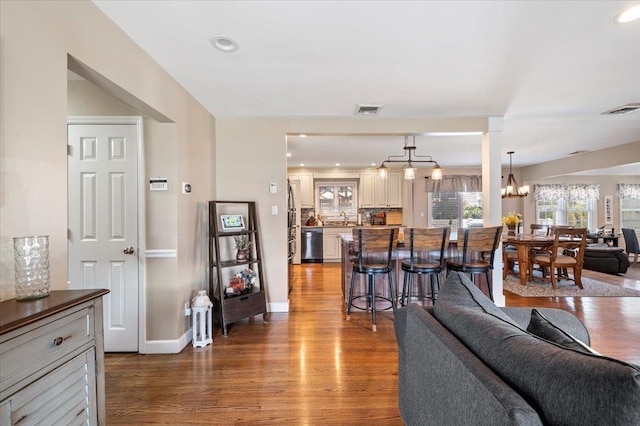
[[[347,321],[351,320],[353,301],[362,295],[353,295],[356,274],[365,274],[368,278],[366,294],[367,307],[371,307],[371,331],[376,331],[376,275],[387,274],[389,281],[389,297],[380,297],[391,303],[391,309],[396,309],[396,294],[393,286],[391,262],[393,251],[398,245],[398,228],[358,228],[353,230],[353,242],[358,250],[358,257],[352,262],[351,285],[347,299]],[[357,306],[354,306],[356,309]],[[389,309],[389,308],[386,308]]]

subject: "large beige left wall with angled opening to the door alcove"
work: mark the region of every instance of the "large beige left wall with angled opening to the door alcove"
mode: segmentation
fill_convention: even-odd
[[[185,330],[184,302],[207,286],[202,206],[214,198],[213,116],[91,2],[2,1],[0,40],[0,298],[13,295],[14,236],[50,235],[52,288],[66,288],[67,57],[72,55],[120,93],[175,123],[145,128],[149,134],[168,130],[173,144],[151,150],[158,163],[150,162],[150,171],[194,188],[189,196],[169,195],[173,211],[157,212],[163,202],[147,200],[147,248],[178,253],[177,269],[166,274],[174,280],[166,303],[147,306],[147,323],[161,324],[150,339],[178,339]],[[161,166],[168,160],[173,170]],[[150,276],[162,275],[155,272]]]

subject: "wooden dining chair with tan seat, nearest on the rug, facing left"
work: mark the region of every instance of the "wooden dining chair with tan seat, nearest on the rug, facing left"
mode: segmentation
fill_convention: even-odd
[[[551,281],[551,286],[557,289],[556,276],[570,279],[567,271],[571,269],[576,285],[584,288],[582,264],[587,245],[587,228],[556,227],[553,235],[553,245],[533,257],[533,263],[542,268],[542,279]],[[548,268],[549,277],[546,276],[545,268]]]

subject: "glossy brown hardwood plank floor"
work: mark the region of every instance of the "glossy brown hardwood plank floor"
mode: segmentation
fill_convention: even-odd
[[[640,290],[626,276],[585,276]],[[291,312],[216,329],[213,345],[177,355],[107,354],[108,424],[402,425],[393,315],[344,320],[339,264],[293,267]],[[640,364],[640,297],[524,298],[509,306],[565,309],[582,319],[592,346]]]

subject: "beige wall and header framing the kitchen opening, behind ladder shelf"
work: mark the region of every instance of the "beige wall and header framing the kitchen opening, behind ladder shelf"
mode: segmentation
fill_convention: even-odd
[[[270,309],[288,309],[286,134],[404,134],[486,131],[486,119],[224,119],[216,120],[219,199],[254,200],[262,230]],[[269,183],[279,191],[269,193]],[[273,216],[271,207],[279,214]]]

